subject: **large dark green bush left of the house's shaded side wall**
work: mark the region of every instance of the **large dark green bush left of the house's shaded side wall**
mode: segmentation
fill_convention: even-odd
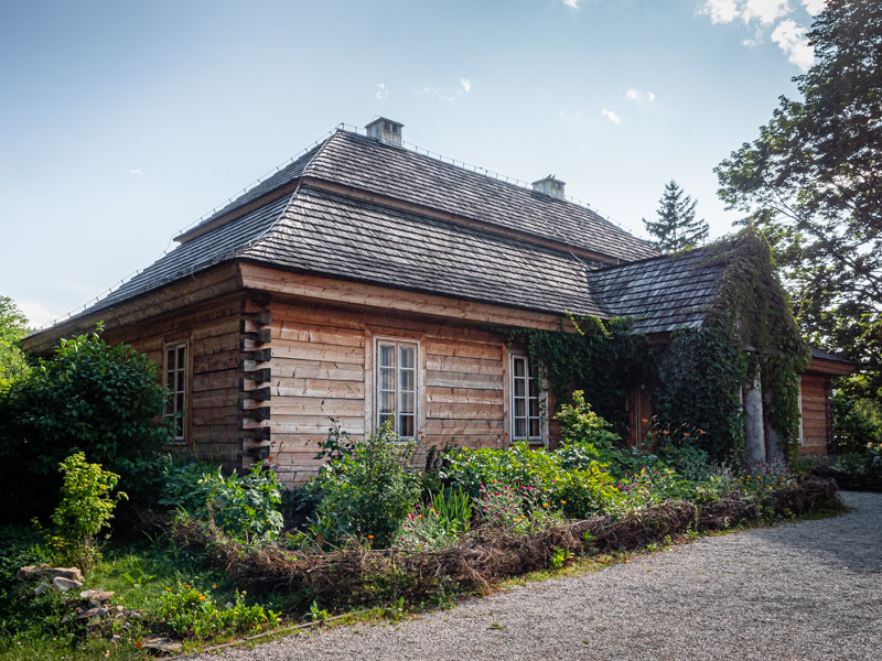
[[[62,340],[54,356],[0,392],[0,479],[4,514],[49,513],[56,466],[84,452],[120,475],[141,502],[154,497],[159,454],[169,440],[166,390],[157,367],[127,345],[110,346],[100,327]]]

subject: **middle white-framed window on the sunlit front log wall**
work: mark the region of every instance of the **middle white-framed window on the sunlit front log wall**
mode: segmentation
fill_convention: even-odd
[[[378,339],[375,376],[377,426],[392,421],[404,438],[417,435],[417,348],[412,342]]]

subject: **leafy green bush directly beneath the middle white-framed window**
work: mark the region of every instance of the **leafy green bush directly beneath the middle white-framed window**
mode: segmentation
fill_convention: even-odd
[[[355,537],[388,546],[420,492],[420,477],[410,466],[415,448],[389,422],[322,466],[310,485],[321,498],[312,527],[321,541],[340,544]]]

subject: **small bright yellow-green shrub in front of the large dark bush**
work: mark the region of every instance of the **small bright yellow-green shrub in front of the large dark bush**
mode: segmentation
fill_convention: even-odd
[[[87,572],[98,559],[96,535],[110,524],[114,509],[125,491],[112,490],[119,475],[104,470],[100,464],[89,464],[82,452],[60,464],[64,474],[61,502],[52,514],[56,534],[52,538],[60,560],[73,562]]]

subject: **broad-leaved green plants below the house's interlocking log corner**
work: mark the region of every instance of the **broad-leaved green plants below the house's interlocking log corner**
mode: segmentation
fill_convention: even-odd
[[[282,530],[281,489],[276,474],[259,464],[240,477],[191,463],[166,470],[160,503],[217,525],[239,543],[263,544]]]

